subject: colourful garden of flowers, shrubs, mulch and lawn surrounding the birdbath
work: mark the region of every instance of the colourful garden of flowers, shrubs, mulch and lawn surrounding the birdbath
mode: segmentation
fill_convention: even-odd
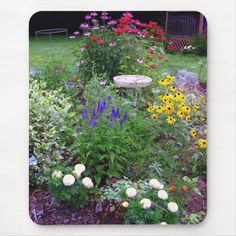
[[[119,19],[88,13],[60,44],[63,49],[37,51],[30,42],[32,220],[200,223],[207,169],[201,44],[177,52],[156,21],[141,22],[130,12]],[[198,80],[183,80],[181,70]],[[117,75],[152,82],[121,88]]]

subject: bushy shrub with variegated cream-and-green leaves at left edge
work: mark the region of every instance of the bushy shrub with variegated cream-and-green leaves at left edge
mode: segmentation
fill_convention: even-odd
[[[45,82],[30,80],[29,154],[36,158],[36,162],[30,164],[31,185],[45,183],[46,172],[66,161],[61,151],[73,137],[70,119],[75,113],[71,107],[61,89],[47,91]]]

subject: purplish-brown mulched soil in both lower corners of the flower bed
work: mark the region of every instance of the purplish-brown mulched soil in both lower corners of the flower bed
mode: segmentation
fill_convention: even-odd
[[[193,200],[186,205],[188,214],[206,211],[206,179],[199,179],[198,188],[202,196],[191,193]],[[122,209],[115,210],[112,205],[103,205],[102,211],[97,213],[96,204],[90,202],[86,207],[73,211],[65,204],[57,203],[47,190],[30,189],[29,214],[31,219],[40,225],[122,224]]]

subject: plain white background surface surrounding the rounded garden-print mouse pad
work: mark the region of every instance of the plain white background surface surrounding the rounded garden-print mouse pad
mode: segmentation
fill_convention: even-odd
[[[208,20],[208,216],[196,226],[38,226],[28,217],[28,21],[40,10],[196,10]],[[235,0],[5,0],[0,235],[235,235]]]

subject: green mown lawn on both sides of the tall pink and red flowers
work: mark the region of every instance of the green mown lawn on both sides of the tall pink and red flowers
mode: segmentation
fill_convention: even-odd
[[[73,55],[73,48],[80,46],[80,41],[66,39],[62,36],[53,36],[51,41],[48,36],[41,36],[38,40],[35,37],[31,37],[29,40],[30,67],[43,68],[52,60],[63,62],[64,66],[74,65],[76,57]],[[166,57],[170,59],[170,62],[163,63],[158,68],[159,73],[168,72],[176,74],[179,70],[185,69],[187,71],[197,72],[200,74],[200,82],[206,83],[206,57],[180,54],[166,54]]]

